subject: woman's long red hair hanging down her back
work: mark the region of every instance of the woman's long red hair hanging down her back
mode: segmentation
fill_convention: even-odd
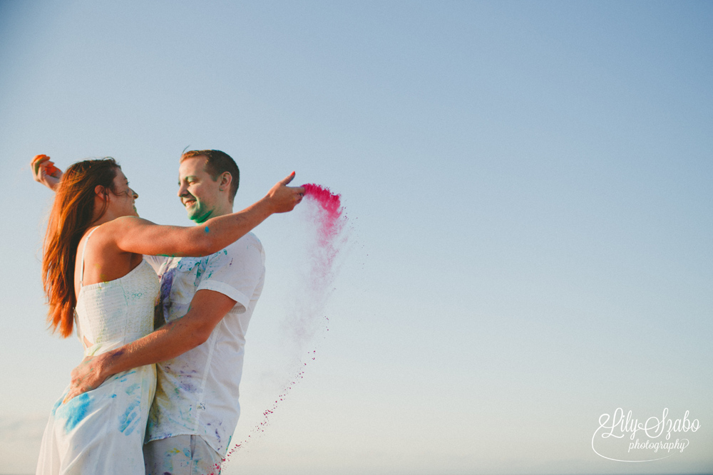
[[[86,230],[108,207],[108,196],[96,219],[95,188],[113,190],[119,165],[113,158],[77,162],[63,174],[47,224],[42,253],[42,285],[49,304],[47,321],[63,338],[72,334],[74,307],[74,267],[77,247]]]

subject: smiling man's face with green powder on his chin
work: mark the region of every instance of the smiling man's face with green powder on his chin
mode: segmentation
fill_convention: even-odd
[[[191,157],[178,167],[178,197],[188,219],[200,224],[209,219],[219,198],[219,183],[205,171],[205,157]]]

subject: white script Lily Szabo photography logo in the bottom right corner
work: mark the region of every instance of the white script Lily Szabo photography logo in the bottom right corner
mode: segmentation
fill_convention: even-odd
[[[613,461],[643,462],[667,459],[682,454],[689,446],[692,432],[700,429],[698,419],[690,419],[689,411],[679,419],[669,417],[665,408],[662,416],[651,416],[644,422],[624,414],[621,407],[614,414],[602,414],[599,427],[592,436],[592,450],[600,457]]]

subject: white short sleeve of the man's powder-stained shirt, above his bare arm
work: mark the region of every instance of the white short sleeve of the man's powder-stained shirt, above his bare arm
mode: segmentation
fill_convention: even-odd
[[[220,292],[236,302],[233,310],[245,313],[264,274],[262,244],[255,235],[246,234],[208,258],[196,291]]]

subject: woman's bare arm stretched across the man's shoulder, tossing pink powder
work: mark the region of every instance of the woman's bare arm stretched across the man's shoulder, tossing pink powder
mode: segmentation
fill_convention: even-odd
[[[207,256],[245,236],[273,213],[294,209],[302,200],[302,187],[287,187],[294,172],[277,182],[270,192],[241,212],[217,216],[199,226],[160,226],[137,216],[122,216],[103,224],[118,249],[151,256]]]

